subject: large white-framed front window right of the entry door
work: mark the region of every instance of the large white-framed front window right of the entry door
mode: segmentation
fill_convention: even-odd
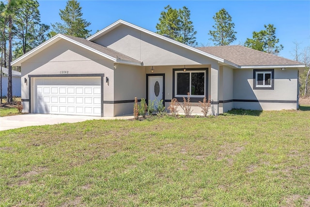
[[[205,96],[206,75],[205,71],[176,71],[175,96],[187,96],[189,93],[192,97]]]

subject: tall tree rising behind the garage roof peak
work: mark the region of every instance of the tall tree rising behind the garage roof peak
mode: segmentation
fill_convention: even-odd
[[[50,35],[53,36],[57,33],[68,34],[76,37],[86,38],[90,36],[90,30],[86,28],[91,24],[82,18],[82,7],[79,5],[77,0],[68,0],[65,9],[60,9],[59,15],[63,21],[63,24],[56,22],[52,25],[52,32]]]

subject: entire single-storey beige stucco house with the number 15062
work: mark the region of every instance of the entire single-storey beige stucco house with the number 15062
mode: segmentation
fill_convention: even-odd
[[[211,100],[233,108],[298,108],[304,64],[243,46],[192,48],[118,20],[88,39],[57,34],[12,62],[22,68],[24,112],[119,116],[134,98]],[[196,102],[196,103],[195,103]],[[181,111],[180,111],[181,112]]]

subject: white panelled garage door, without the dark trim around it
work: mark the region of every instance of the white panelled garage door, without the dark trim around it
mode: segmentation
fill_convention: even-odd
[[[101,116],[100,85],[36,84],[37,113]]]

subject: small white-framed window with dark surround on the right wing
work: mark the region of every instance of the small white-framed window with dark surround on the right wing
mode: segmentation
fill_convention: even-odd
[[[274,89],[274,69],[253,70],[253,89]]]

